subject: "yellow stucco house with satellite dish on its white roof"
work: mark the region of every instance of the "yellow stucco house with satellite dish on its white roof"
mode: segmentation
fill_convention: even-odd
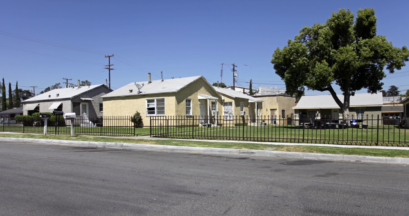
[[[203,116],[199,124],[210,123],[221,96],[203,76],[132,82],[102,96],[104,116],[132,116],[139,111],[149,127],[151,116]],[[213,109],[212,109],[213,105]],[[205,117],[206,116],[206,117]],[[188,123],[186,123],[188,124]]]

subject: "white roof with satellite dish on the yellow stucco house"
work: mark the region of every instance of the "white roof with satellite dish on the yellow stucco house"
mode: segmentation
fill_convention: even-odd
[[[187,85],[198,79],[205,79],[203,76],[191,76],[184,78],[174,78],[166,80],[153,80],[151,83],[148,81],[144,82],[131,82],[128,85],[121,87],[115,91],[112,91],[101,98],[111,98],[111,97],[125,97],[132,95],[148,95],[148,94],[160,94],[160,93],[174,93],[183,89]],[[207,81],[206,81],[207,82]],[[136,87],[136,84],[142,86],[141,89]],[[130,91],[132,90],[132,91]],[[138,92],[140,90],[140,92]]]

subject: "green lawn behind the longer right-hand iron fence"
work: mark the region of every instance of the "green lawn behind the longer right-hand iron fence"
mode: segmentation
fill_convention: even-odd
[[[314,129],[267,125],[263,127],[156,127],[153,134],[167,138],[249,140],[284,143],[323,143],[342,145],[408,146],[407,129],[382,126],[379,129]]]

